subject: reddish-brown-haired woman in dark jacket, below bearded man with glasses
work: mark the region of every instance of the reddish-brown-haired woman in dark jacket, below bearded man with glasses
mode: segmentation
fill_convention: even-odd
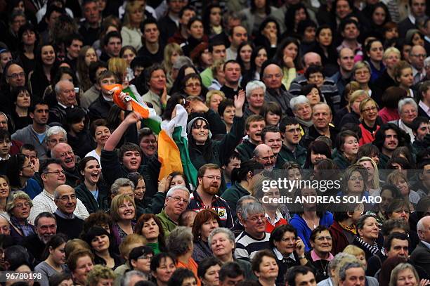
[[[209,234],[219,227],[219,216],[213,209],[203,209],[197,213],[193,223],[193,259],[201,261],[212,256],[211,247],[207,244]]]

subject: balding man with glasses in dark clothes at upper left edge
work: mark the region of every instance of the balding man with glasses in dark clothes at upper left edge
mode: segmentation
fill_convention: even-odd
[[[6,85],[0,90],[0,111],[12,114],[12,110],[15,110],[15,105],[12,102],[11,91],[15,87],[25,86],[25,72],[21,64],[15,60],[9,61],[4,69]],[[34,96],[41,95],[35,94]]]

